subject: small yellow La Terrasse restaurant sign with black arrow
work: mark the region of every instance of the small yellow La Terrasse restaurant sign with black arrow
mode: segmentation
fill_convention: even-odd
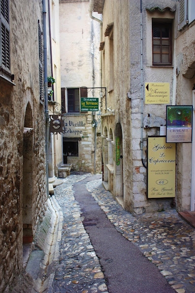
[[[170,84],[169,82],[145,82],[146,104],[169,104]]]

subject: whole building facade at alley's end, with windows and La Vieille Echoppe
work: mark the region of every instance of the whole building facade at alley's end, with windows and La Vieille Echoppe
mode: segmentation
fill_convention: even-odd
[[[88,17],[88,6],[88,0],[59,1],[63,163],[72,165],[71,170],[96,173],[102,168],[98,111],[81,111],[81,98],[102,93],[100,28]]]

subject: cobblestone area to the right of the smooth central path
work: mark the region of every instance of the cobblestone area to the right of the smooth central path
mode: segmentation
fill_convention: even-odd
[[[134,217],[113,201],[101,180],[86,187],[117,231],[140,247],[176,292],[195,292],[195,229],[176,210]]]

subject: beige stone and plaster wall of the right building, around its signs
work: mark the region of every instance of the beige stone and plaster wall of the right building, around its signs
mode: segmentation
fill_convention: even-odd
[[[145,82],[169,82],[170,103],[172,103],[173,68],[152,67],[151,19],[174,18],[173,13],[147,12],[146,8],[159,7],[173,9],[175,3],[166,1],[142,1],[143,29],[143,101],[145,100]],[[107,25],[113,22],[114,43],[114,90],[108,93],[107,106],[115,113],[114,122],[109,116],[103,117],[104,126],[115,131],[119,123],[122,129],[123,199],[126,210],[134,214],[144,211],[160,210],[170,207],[171,199],[152,199],[146,196],[147,173],[142,164],[142,97],[141,97],[141,9],[138,1],[105,0],[103,11],[103,86],[109,89],[110,60],[109,38],[104,37]],[[129,98],[127,98],[127,93]],[[143,116],[152,113],[166,119],[166,105],[143,103]],[[159,135],[159,128],[143,130],[143,160],[146,159],[147,137]],[[108,136],[107,136],[108,137]],[[146,161],[145,161],[146,162]],[[115,166],[116,167],[116,166]],[[117,173],[117,168],[115,169]],[[115,179],[114,179],[115,180]],[[117,181],[115,180],[115,183]]]

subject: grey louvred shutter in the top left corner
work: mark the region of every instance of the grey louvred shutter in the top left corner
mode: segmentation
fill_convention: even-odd
[[[1,0],[1,68],[10,73],[9,0]]]

